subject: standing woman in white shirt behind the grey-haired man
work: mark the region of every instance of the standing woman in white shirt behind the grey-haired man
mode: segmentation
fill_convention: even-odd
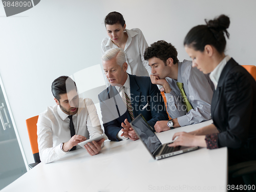
[[[143,57],[148,45],[141,30],[138,28],[126,29],[122,14],[115,11],[106,15],[104,23],[109,37],[105,37],[101,42],[102,55],[109,49],[122,48],[128,64],[127,73],[149,76],[151,68]],[[109,85],[109,81],[106,78],[105,80]]]

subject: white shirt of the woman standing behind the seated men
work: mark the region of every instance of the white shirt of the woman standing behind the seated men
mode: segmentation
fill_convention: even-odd
[[[148,62],[144,60],[144,51],[148,47],[146,39],[140,29],[125,29],[128,35],[124,53],[126,55],[126,62],[128,64],[127,73],[137,76],[149,76],[151,74],[151,67],[148,66]],[[109,49],[118,48],[113,43],[110,37],[105,37],[101,42],[102,55]],[[110,83],[105,77],[106,84]]]

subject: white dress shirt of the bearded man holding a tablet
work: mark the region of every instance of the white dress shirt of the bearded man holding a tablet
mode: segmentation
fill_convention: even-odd
[[[59,105],[48,106],[37,121],[37,142],[41,162],[50,163],[66,154],[60,144],[71,139],[68,114]],[[75,134],[87,139],[103,133],[95,105],[91,99],[79,98],[78,112],[72,116]],[[77,148],[80,146],[77,145]]]

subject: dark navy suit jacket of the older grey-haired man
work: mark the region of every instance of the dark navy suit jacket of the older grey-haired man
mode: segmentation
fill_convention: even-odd
[[[150,77],[130,75],[131,104],[134,117],[140,113],[153,128],[157,121],[168,120],[165,104],[155,84]],[[119,141],[117,133],[122,129],[121,123],[131,117],[121,96],[115,87],[109,86],[98,95],[100,110],[106,136],[110,140]],[[143,109],[144,108],[144,109]]]

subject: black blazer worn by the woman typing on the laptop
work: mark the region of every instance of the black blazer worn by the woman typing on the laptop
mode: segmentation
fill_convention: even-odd
[[[239,149],[245,152],[245,148],[254,147],[256,82],[233,58],[226,63],[212,96],[211,117],[220,131],[219,147],[227,146],[231,151],[235,149],[236,152]],[[255,152],[254,150],[253,153]]]

